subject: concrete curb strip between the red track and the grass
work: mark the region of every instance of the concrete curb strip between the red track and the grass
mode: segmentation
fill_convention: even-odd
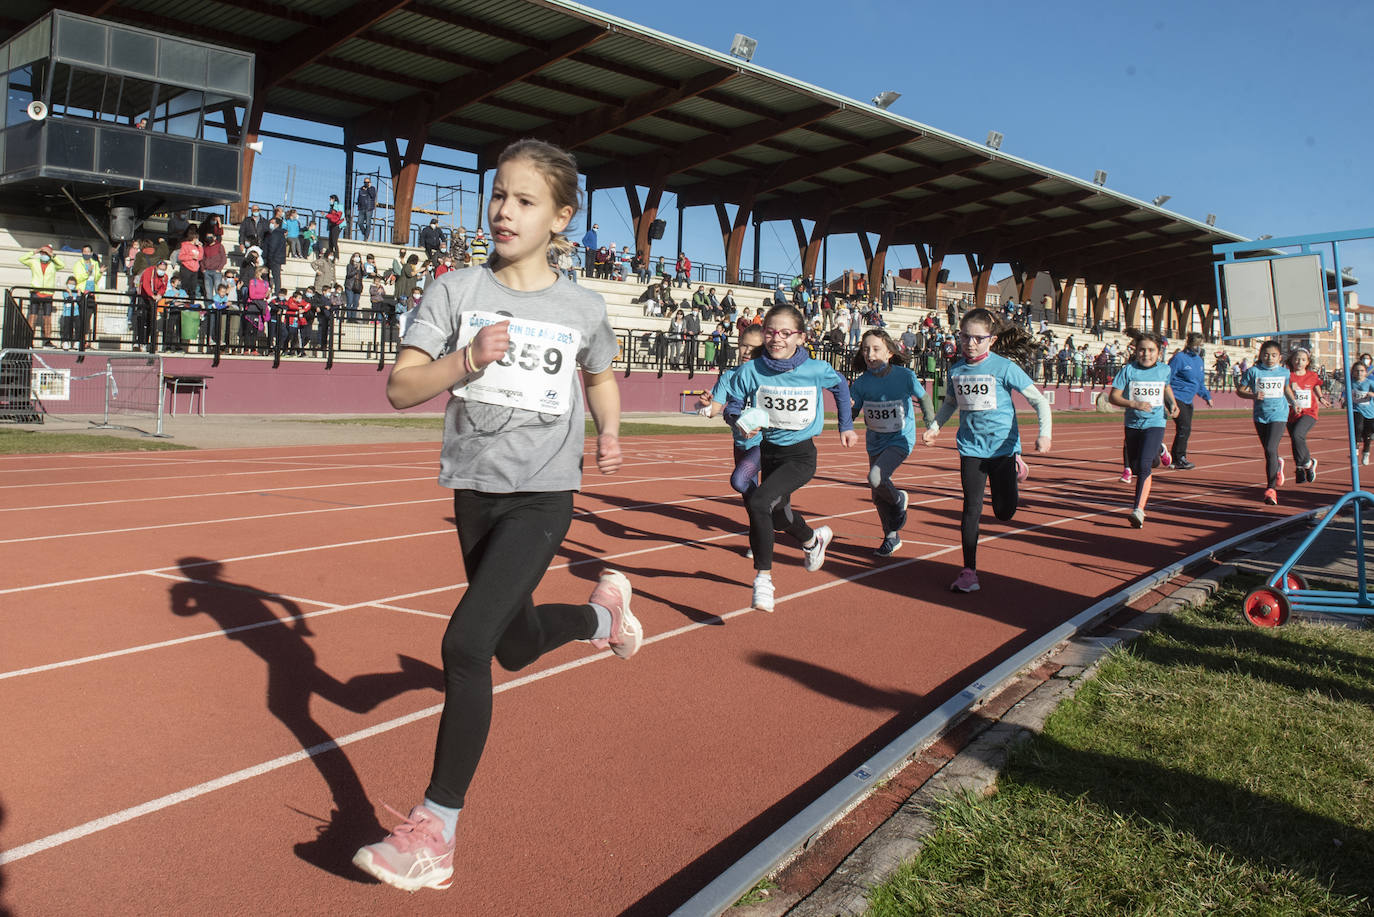
[[[1136,615],[1106,637],[1074,637],[1051,653],[1047,665],[1054,672],[987,726],[927,780],[881,828],[872,832],[845,861],[805,898],[768,901],[736,907],[734,917],[835,917],[863,914],[868,910],[868,891],[886,881],[903,863],[915,857],[925,839],[934,830],[934,813],[944,800],[958,793],[987,795],[1015,745],[1044,727],[1054,709],[1072,697],[1084,679],[1091,678],[1102,659],[1123,643],[1158,626],[1165,615],[1189,605],[1202,605],[1217,587],[1234,576],[1237,568],[1213,568],[1150,610]]]

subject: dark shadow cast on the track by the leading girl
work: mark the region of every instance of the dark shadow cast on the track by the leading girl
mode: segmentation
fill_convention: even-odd
[[[176,583],[172,612],[183,617],[209,615],[225,635],[243,643],[267,663],[267,708],[291,730],[334,799],[330,817],[320,822],[313,841],[295,846],[295,854],[320,869],[360,883],[370,883],[350,865],[363,843],[385,832],[348,756],[311,715],[311,698],[320,698],[354,714],[412,690],[444,690],[444,674],[416,659],[398,656],[394,672],[356,675],[341,682],[316,663],[308,638],[313,637],[300,606],[289,598],[221,577],[223,565],[201,557],[183,557],[187,582]],[[280,606],[284,615],[273,610]],[[304,813],[302,813],[304,814]]]

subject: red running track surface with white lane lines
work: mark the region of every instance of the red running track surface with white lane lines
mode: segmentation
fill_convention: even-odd
[[[1120,426],[1061,425],[1015,520],[985,514],[971,595],[947,591],[951,443],[900,470],[908,540],[875,562],[863,448],[823,437],[797,505],[837,539],[813,575],[780,547],[774,615],[743,610],[724,436],[628,440],[621,474],[587,476],[537,598],[581,601],[613,564],[651,641],[629,661],[578,643],[496,670],[455,885],[412,901],[349,858],[381,836],[374,813],[390,826],[381,803],[407,810],[429,777],[463,583],[436,448],[0,459],[0,907],[665,914],[1058,621],[1348,487],[1338,414],[1312,440],[1319,484],[1290,481],[1279,507],[1259,502],[1249,421],[1197,428],[1198,470],[1158,474],[1138,532]]]

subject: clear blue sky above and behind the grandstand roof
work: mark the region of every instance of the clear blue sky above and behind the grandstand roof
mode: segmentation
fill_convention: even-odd
[[[978,142],[1002,131],[1004,153],[1084,179],[1105,169],[1114,190],[1169,194],[1167,209],[1216,213],[1239,235],[1374,225],[1369,0],[588,5],[719,51],[743,32],[758,66],[859,100],[896,89],[896,114]],[[631,241],[622,194],[598,192],[595,216],[603,241]],[[672,247],[676,212],[664,216]],[[683,242],[697,261],[724,260],[710,208],[687,212]],[[1374,283],[1374,243],[1342,257]],[[765,225],[763,267],[796,264],[790,230]],[[831,276],[861,267],[856,239],[831,239],[829,264]],[[889,264],[918,261],[905,246]]]

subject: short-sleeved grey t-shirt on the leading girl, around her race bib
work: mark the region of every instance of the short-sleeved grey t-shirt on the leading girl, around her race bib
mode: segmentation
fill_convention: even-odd
[[[511,290],[486,267],[449,271],[429,283],[401,344],[431,357],[452,352],[458,349],[463,316],[471,312],[508,315],[576,331],[580,335],[577,366],[588,373],[607,370],[616,359],[616,334],[599,293],[565,276],[543,290]],[[544,368],[545,364],[539,363],[532,373]],[[576,373],[570,385],[563,414],[451,397],[444,418],[438,483],[486,494],[578,489],[585,414]]]

